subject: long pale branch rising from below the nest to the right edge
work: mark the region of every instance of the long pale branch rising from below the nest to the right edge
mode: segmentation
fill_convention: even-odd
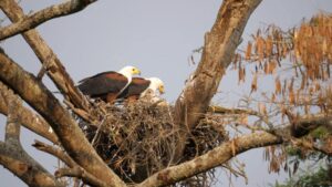
[[[312,117],[311,120],[305,118],[300,120],[298,125],[311,125],[313,129],[320,125],[330,123],[328,120],[331,120],[331,116],[318,116]],[[246,150],[289,142],[291,141],[291,126],[292,125],[288,125],[283,128],[276,129],[273,134],[268,132],[257,132],[234,138],[195,159],[160,170],[137,186],[156,187],[175,184],[176,181],[218,167],[234,156]]]

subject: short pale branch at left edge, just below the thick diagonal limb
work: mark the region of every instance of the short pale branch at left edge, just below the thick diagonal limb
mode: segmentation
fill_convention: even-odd
[[[17,95],[13,95],[13,93],[2,82],[0,82],[0,113],[3,115],[9,114],[8,106],[11,96],[18,97]],[[20,114],[20,122],[24,127],[49,139],[53,144],[59,144],[56,135],[50,131],[51,126],[44,121],[43,117],[22,105],[17,105],[15,110]]]

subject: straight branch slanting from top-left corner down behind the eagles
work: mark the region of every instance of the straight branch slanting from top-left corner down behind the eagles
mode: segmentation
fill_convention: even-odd
[[[77,1],[76,3],[84,4],[87,2],[92,2],[92,0],[82,2]],[[25,18],[22,9],[19,7],[15,0],[2,0],[0,1],[0,8],[12,22],[19,22]],[[22,35],[34,51],[41,63],[46,64],[49,76],[55,83],[56,87],[64,95],[64,97],[71,101],[76,107],[89,111],[87,100],[75,87],[73,80],[65,71],[61,61],[40,37],[37,30],[29,30],[23,32]]]

